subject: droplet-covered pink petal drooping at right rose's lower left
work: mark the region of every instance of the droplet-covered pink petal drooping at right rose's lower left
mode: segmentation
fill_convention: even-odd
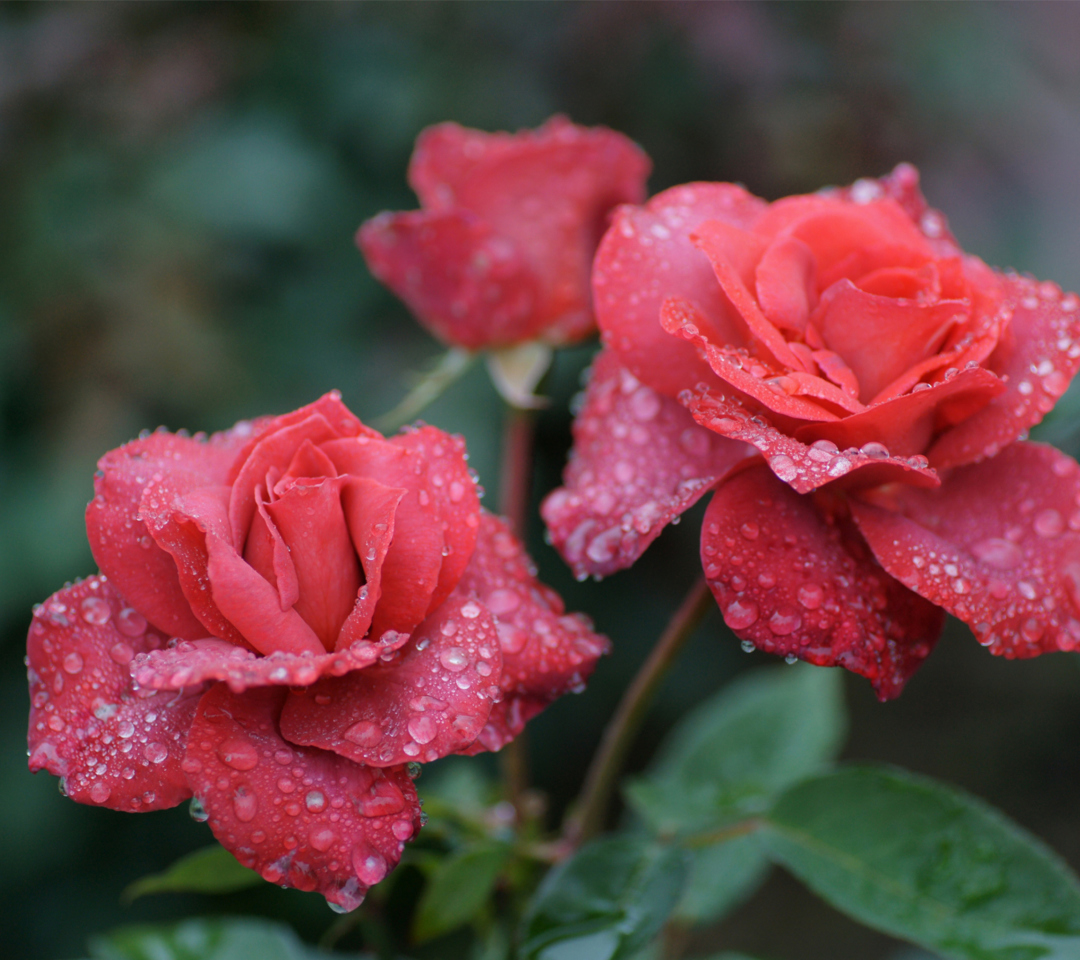
[[[573,421],[565,486],[541,513],[579,577],[606,576],[633,564],[747,452],[699,428],[605,350]]]

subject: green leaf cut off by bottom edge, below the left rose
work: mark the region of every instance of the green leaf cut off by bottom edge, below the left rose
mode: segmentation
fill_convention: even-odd
[[[90,942],[93,960],[327,960],[287,927],[254,918],[126,927]],[[360,958],[356,958],[360,960]]]

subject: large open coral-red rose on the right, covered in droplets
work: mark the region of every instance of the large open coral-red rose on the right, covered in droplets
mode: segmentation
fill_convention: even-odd
[[[705,576],[761,649],[888,699],[944,611],[1004,657],[1080,644],[1080,471],[1021,438],[1080,364],[1080,301],[964,254],[913,167],[621,207],[593,289],[606,348],[543,506],[579,576],[715,490]]]

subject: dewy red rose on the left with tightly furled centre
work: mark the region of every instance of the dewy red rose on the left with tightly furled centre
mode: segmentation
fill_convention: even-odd
[[[465,456],[336,393],[106,454],[102,573],[30,627],[30,769],[114,810],[193,796],[242,864],[357,906],[420,827],[407,766],[499,749],[606,649]]]

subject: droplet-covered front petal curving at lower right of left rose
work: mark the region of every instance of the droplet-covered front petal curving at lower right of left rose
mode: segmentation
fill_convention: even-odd
[[[455,593],[401,655],[294,692],[281,717],[293,743],[388,767],[437,760],[472,743],[500,697],[495,620]]]

